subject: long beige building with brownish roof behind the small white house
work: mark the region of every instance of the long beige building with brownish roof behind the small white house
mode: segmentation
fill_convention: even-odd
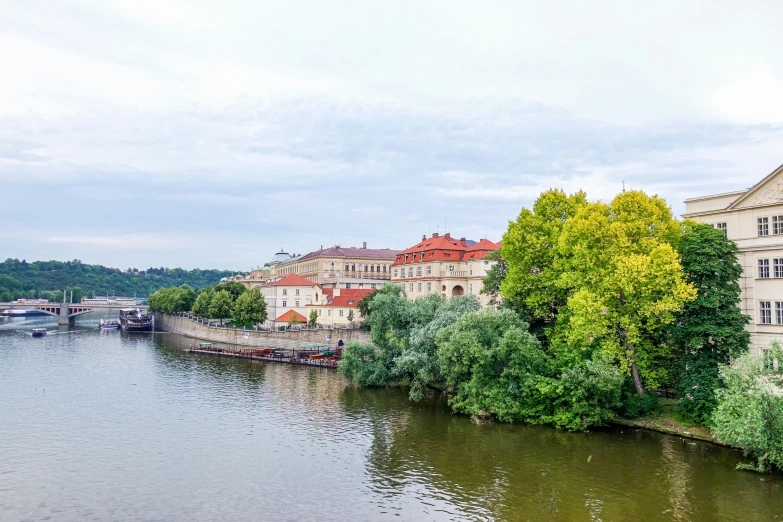
[[[297,274],[323,288],[376,289],[391,280],[391,264],[399,250],[334,246],[320,248],[306,255],[281,251],[264,269],[251,272],[238,281],[248,288]],[[265,280],[259,279],[266,277]]]

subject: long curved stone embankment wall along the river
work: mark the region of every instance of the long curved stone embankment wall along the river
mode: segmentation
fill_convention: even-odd
[[[351,341],[370,342],[370,332],[365,330],[345,330],[319,328],[291,332],[257,332],[234,328],[217,328],[200,324],[187,317],[155,314],[155,330],[194,337],[213,343],[237,344],[270,348],[292,348],[303,344],[327,344],[337,346],[342,339],[345,344]],[[247,333],[247,337],[245,334]],[[331,334],[331,340],[326,336]]]

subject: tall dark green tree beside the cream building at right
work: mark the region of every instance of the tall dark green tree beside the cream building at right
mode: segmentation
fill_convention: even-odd
[[[720,365],[748,350],[750,318],[739,308],[742,266],[734,242],[711,225],[688,223],[679,251],[697,294],[677,314],[668,336],[681,350],[682,412],[703,424],[717,405]]]

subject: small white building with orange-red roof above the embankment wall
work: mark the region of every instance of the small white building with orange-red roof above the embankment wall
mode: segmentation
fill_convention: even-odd
[[[258,286],[266,301],[265,326],[286,326],[292,318],[307,322],[307,305],[319,302],[321,287],[297,274],[289,274],[277,281]]]

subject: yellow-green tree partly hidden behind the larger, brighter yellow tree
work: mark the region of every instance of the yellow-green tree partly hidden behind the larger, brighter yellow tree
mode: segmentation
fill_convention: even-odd
[[[531,330],[547,341],[546,329],[555,320],[568,300],[568,289],[557,284],[561,275],[555,266],[560,253],[558,243],[563,227],[587,204],[584,192],[566,195],[560,189],[543,192],[533,209],[523,208],[516,221],[509,222],[503,235],[500,255],[508,265],[500,263],[488,274],[490,288],[500,281],[504,306],[529,320]]]

